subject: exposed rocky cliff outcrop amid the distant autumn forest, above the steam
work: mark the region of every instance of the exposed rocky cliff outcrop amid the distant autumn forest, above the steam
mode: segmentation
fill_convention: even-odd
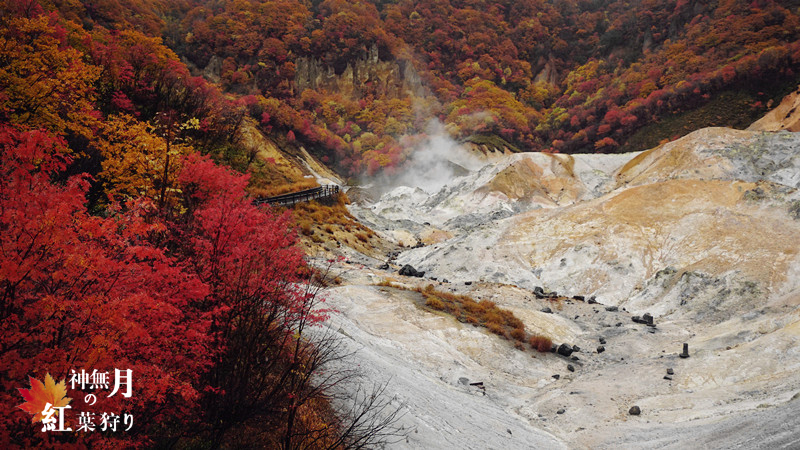
[[[341,74],[326,67],[319,59],[298,58],[295,86],[298,94],[305,89],[324,89],[351,98],[359,98],[365,92],[389,98],[424,93],[419,74],[410,61],[381,61],[376,46],[365,58],[348,64]]]

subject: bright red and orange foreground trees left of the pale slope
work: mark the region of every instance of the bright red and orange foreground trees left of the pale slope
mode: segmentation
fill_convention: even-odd
[[[230,145],[237,103],[157,39],[7,6],[22,9],[0,18],[0,447],[343,440],[312,383],[330,351],[307,337],[325,312],[291,217],[197,150]],[[133,415],[125,433],[42,433],[25,412],[38,385],[18,393],[116,368],[132,398],[69,393]]]

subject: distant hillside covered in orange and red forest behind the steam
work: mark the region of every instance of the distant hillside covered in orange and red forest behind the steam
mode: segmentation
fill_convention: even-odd
[[[796,86],[800,63],[797,1],[186,6],[170,45],[255,96],[250,111],[267,129],[292,131],[350,173],[402,161],[431,117],[461,139],[567,153],[744,127]],[[318,80],[347,77],[356,89],[307,82],[308,60],[329,71]],[[370,73],[359,61],[396,64]],[[411,86],[387,89],[398,74]]]

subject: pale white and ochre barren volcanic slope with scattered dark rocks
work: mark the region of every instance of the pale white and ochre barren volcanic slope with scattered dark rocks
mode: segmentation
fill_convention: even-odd
[[[437,192],[353,206],[386,239],[423,244],[388,271],[350,255],[330,292],[365,370],[391,375],[414,430],[398,448],[800,442],[798,149],[794,133],[710,128],[628,155],[495,154]],[[383,279],[490,299],[582,350],[520,352]],[[654,327],[633,320],[645,313]]]

